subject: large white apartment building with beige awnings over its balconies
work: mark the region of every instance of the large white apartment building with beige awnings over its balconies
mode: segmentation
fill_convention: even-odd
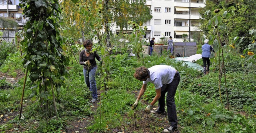
[[[198,29],[198,11],[204,8],[204,3],[205,0],[146,0],[146,6],[152,10],[153,18],[144,23],[148,28],[144,38],[154,37],[155,42],[159,42],[162,37],[172,36],[175,42],[182,42],[182,35],[187,34],[186,40],[192,41],[193,34],[202,32]],[[113,28],[112,31],[118,34],[120,29]]]

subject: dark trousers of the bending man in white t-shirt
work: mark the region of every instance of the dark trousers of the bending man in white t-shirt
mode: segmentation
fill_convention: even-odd
[[[165,98],[165,93],[167,92],[166,106],[167,106],[168,120],[169,120],[170,126],[173,126],[173,127],[178,126],[174,96],[179,83],[180,83],[180,73],[178,72],[175,74],[174,79],[171,83],[162,86],[161,97],[158,99],[158,110],[161,112],[164,112],[164,105],[165,105],[164,98]]]

